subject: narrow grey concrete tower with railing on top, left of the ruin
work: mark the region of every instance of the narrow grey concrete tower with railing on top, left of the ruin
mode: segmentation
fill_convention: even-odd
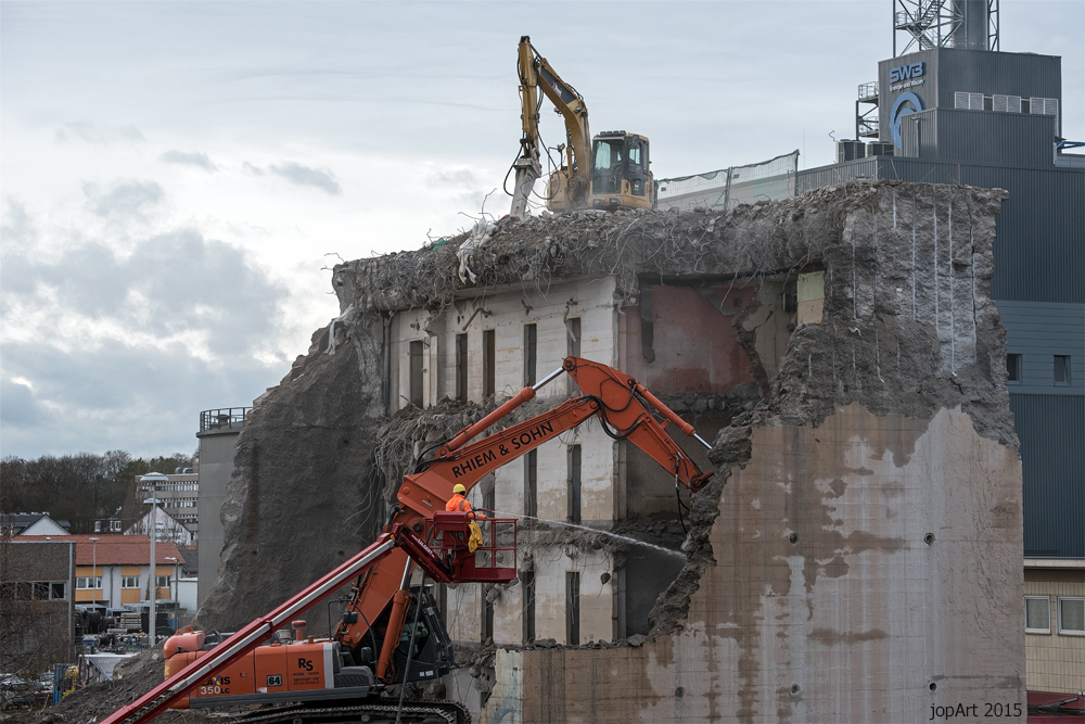
[[[233,472],[233,455],[238,435],[245,427],[247,407],[227,407],[200,412],[200,472],[196,475],[199,499],[196,512],[201,522],[199,554],[200,602],[218,579],[222,557],[222,521],[219,513],[226,498],[226,486]]]

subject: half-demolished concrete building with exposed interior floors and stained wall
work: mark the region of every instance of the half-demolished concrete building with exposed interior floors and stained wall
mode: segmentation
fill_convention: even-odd
[[[497,645],[451,697],[524,722],[896,722],[983,697],[1023,710],[1020,462],[988,296],[1004,194],[919,188],[546,217],[471,255],[461,238],[341,265],[343,318],[242,445],[319,420],[343,449],[324,420],[354,374],[361,409],[382,390],[373,458],[394,500],[422,450],[565,355],[610,364],[715,441],[699,460],[716,475],[679,491],[686,510],[673,474],[591,421],[480,481],[475,506],[553,522],[524,525],[515,584],[447,592],[451,637]],[[457,253],[475,284],[451,277]],[[352,340],[357,357],[341,352]],[[553,382],[506,422],[571,394]],[[241,586],[276,539],[244,516],[305,474],[258,472],[233,503]]]

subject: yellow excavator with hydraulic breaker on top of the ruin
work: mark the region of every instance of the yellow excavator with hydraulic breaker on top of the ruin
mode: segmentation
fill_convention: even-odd
[[[539,158],[546,148],[539,139],[539,110],[542,106],[539,91],[565,120],[566,142],[557,149],[559,155],[564,151],[564,157],[547,180],[547,208],[652,208],[655,186],[649,170],[648,139],[624,130],[605,131],[591,138],[584,97],[558,76],[526,35],[520,39],[519,71],[524,132],[520,139],[520,157],[513,163],[516,186],[510,216],[524,218],[527,199],[542,175]]]

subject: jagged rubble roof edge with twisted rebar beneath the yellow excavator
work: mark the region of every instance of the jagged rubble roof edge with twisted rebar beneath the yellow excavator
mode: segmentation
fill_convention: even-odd
[[[485,296],[522,285],[545,294],[570,277],[618,278],[625,303],[641,275],[756,277],[802,266],[839,243],[846,213],[892,181],[853,181],[801,198],[743,204],[720,213],[618,211],[556,214],[496,229],[472,254],[474,284],[456,274],[467,234],[401,252],[336,265],[332,284],[341,310],[394,313],[447,307],[463,294]],[[793,243],[792,240],[801,240]]]

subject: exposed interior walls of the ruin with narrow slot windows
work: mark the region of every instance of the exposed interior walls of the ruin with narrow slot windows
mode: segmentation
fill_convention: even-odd
[[[391,323],[390,414],[409,406],[433,408],[444,398],[501,401],[574,355],[633,374],[687,412],[691,402],[713,399],[715,412],[695,415],[700,434],[713,440],[727,415],[727,405],[718,398],[726,399],[730,392],[733,403],[736,390],[745,392],[743,403],[756,396],[750,359],[735,328],[717,322],[728,313],[733,317],[757,306],[763,296],[764,308],[775,310],[766,315],[766,323],[786,339],[796,310],[782,308],[782,279],[766,282],[760,292],[752,284],[702,282],[646,282],[642,299],[651,299],[654,307],[647,322],[636,309],[620,314],[615,308],[614,278],[556,283],[545,294],[520,288],[488,290],[485,296],[457,300],[439,316],[427,309],[404,310]],[[720,313],[716,305],[724,299]],[[775,335],[766,340],[773,344]],[[532,411],[578,395],[575,385],[562,379],[539,391]],[[702,469],[711,468],[700,445],[679,443]],[[674,478],[636,446],[611,440],[595,419],[523,461],[500,468],[472,490],[470,499],[498,515],[526,513],[605,531],[636,529],[658,542],[667,538],[674,547],[681,538]],[[490,593],[492,600],[478,586],[458,587],[446,606],[450,636],[475,643],[553,639],[578,645],[648,634],[649,611],[684,562],[681,556],[649,546],[621,555],[602,548],[570,555],[563,547],[535,550],[533,557],[547,564],[528,571],[522,586]]]

